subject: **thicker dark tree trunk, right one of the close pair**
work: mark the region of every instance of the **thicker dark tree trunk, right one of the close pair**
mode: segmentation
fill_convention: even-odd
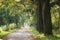
[[[49,6],[49,0],[46,0],[45,2],[45,8],[44,8],[44,34],[45,35],[51,35],[52,34],[52,23],[51,23],[51,13],[50,13],[50,6]]]

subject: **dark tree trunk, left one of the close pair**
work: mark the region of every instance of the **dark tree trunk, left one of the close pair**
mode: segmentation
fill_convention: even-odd
[[[37,30],[43,32],[42,4],[41,0],[37,0]]]

